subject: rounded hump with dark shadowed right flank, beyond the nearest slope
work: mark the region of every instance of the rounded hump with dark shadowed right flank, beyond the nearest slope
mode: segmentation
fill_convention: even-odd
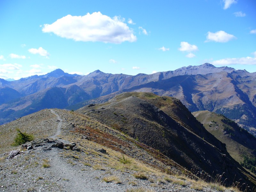
[[[225,172],[223,179],[227,178],[228,185],[237,177],[244,182],[249,177],[255,183],[254,175],[235,161],[226,145],[209,133],[178,99],[126,92],[77,111],[160,151],[188,170]]]

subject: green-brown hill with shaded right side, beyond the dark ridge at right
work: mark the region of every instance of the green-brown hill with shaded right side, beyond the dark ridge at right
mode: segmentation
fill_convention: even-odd
[[[243,162],[244,156],[256,157],[256,138],[225,116],[210,111],[192,113],[204,127],[222,143],[228,153],[237,161]]]

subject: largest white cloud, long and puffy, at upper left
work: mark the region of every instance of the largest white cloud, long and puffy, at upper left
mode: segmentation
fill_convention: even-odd
[[[120,44],[124,41],[134,42],[137,37],[120,17],[110,18],[100,12],[87,13],[84,16],[67,15],[52,24],[44,24],[45,33],[75,41],[101,41]]]

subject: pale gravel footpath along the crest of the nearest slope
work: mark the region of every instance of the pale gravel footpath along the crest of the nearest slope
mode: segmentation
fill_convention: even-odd
[[[53,109],[50,110],[51,113],[57,117],[58,127],[56,133],[50,136],[50,138],[56,140],[57,136],[61,134],[62,119]],[[68,141],[62,139],[57,141],[68,143]],[[44,154],[42,155],[44,158],[50,159],[51,167],[48,170],[51,172],[50,174],[55,175],[57,183],[62,186],[62,191],[97,192],[124,190],[123,186],[114,185],[114,188],[111,188],[110,186],[112,185],[109,186],[106,183],[99,182],[99,180],[95,179],[102,171],[87,170],[83,172],[81,167],[67,163],[67,158],[60,156],[61,149],[59,148],[52,148],[52,150],[43,153]]]

